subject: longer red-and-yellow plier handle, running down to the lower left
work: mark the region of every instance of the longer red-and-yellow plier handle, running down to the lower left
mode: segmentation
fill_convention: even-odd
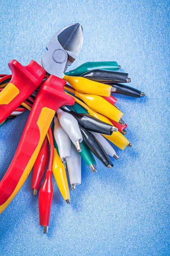
[[[74,104],[75,99],[64,92],[65,84],[63,79],[50,75],[40,86],[16,153],[0,182],[0,212],[29,175],[56,110],[60,106]]]

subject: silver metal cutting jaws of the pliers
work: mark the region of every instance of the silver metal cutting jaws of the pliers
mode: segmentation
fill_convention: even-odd
[[[58,31],[46,47],[40,65],[46,72],[60,78],[75,61],[83,45],[83,29],[79,23],[68,25]]]

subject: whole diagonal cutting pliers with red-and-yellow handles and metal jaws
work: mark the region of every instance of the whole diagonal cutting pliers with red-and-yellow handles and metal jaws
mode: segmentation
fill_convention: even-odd
[[[18,193],[38,156],[48,128],[60,106],[73,105],[75,99],[64,92],[64,71],[78,56],[83,44],[79,23],[68,25],[53,36],[39,64],[22,66],[9,62],[10,83],[0,92],[0,123],[39,86],[38,94],[26,122],[12,162],[0,181],[0,213]],[[42,83],[44,75],[50,75]]]

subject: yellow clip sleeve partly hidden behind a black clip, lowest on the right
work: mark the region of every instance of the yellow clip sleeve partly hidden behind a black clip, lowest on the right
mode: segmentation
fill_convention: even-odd
[[[108,120],[107,117],[104,117],[103,115],[101,115],[101,114],[95,112],[95,111],[92,110],[92,109],[88,110],[88,113],[89,113],[90,115],[92,115],[93,117],[98,118],[98,119],[101,120],[101,121],[104,121],[104,122],[106,122],[106,123],[108,123],[108,124],[113,125],[113,124],[110,122],[110,120]],[[109,136],[109,135],[104,135],[104,134],[103,134],[103,136],[104,136],[106,139],[110,140],[110,141],[111,141],[113,144],[115,144],[117,147],[121,148],[122,150],[125,149],[126,146],[128,146],[128,144],[129,144],[128,139],[126,139],[126,137],[124,137],[119,131],[118,131],[118,132],[113,132],[112,135],[110,135],[110,136]]]

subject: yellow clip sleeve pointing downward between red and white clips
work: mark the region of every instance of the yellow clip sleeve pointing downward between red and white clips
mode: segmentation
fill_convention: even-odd
[[[62,163],[59,155],[57,154],[57,149],[54,148],[54,157],[53,157],[53,175],[57,182],[57,186],[62,194],[64,200],[70,200],[70,193],[68,188],[68,181],[66,176],[66,170],[64,164]]]

